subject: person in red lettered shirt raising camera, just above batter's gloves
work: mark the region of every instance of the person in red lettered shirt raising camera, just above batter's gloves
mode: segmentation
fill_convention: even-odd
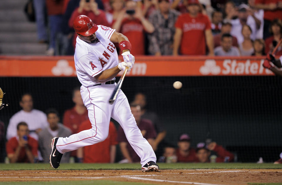
[[[130,53],[132,55],[145,55],[145,36],[144,31],[153,33],[154,26],[142,14],[140,8],[137,8],[137,3],[128,0],[125,3],[126,12],[123,16],[119,16],[113,29],[125,35],[131,43]]]

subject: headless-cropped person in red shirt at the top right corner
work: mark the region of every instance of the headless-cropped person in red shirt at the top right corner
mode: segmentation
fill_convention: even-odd
[[[282,1],[281,0],[255,0],[256,8],[264,10],[263,16],[263,39],[271,36],[269,26],[271,21],[282,17]]]

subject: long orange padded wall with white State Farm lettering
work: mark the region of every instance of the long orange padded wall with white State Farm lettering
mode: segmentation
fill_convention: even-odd
[[[264,57],[136,56],[135,65],[127,76],[273,75],[270,70],[262,67],[263,59]],[[76,72],[73,56],[0,56],[0,76],[74,77]]]

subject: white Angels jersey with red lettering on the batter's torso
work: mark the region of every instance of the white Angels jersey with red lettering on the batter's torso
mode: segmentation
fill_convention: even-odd
[[[110,41],[114,32],[115,29],[98,25],[95,34],[99,42],[88,43],[76,38],[74,62],[78,80],[84,87],[100,83],[93,77],[118,65],[117,50]]]

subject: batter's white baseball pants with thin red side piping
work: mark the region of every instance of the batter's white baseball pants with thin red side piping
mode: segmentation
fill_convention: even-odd
[[[137,127],[125,94],[120,90],[113,105],[109,104],[108,101],[116,85],[115,83],[81,86],[81,97],[87,107],[92,128],[69,137],[60,137],[56,144],[59,152],[63,154],[104,141],[108,137],[110,117],[112,117],[123,128],[128,142],[140,157],[142,166],[149,161],[156,162],[156,155]]]

